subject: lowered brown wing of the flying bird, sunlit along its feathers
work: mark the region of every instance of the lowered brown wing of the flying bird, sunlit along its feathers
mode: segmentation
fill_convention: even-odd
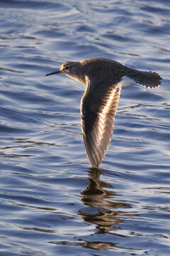
[[[89,162],[98,167],[111,142],[121,87],[108,86],[103,91],[100,86],[90,87],[81,99],[81,126]]]

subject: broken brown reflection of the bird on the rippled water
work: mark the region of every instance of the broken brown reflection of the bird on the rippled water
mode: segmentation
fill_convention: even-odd
[[[96,233],[115,233],[118,224],[123,222],[122,216],[127,215],[123,208],[131,208],[129,203],[123,203],[114,198],[120,196],[113,192],[113,186],[100,180],[104,170],[98,168],[89,169],[89,185],[81,191],[81,202],[85,208],[81,208],[78,215],[87,223],[96,225]],[[121,210],[120,210],[121,208]],[[86,241],[84,247],[91,247],[98,250],[106,250],[114,244],[106,242]]]

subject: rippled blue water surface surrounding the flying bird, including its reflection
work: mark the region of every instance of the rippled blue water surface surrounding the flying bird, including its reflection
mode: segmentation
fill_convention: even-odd
[[[0,1],[0,255],[169,255],[170,2]],[[45,74],[111,58],[164,78],[122,90],[90,169],[85,86]]]

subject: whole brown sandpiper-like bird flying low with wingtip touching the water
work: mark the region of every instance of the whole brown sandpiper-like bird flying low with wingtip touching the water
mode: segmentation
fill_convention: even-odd
[[[130,85],[158,87],[162,80],[155,72],[136,70],[106,58],[67,62],[47,75],[55,74],[86,84],[81,97],[81,129],[92,167],[100,166],[111,143],[121,89]]]

